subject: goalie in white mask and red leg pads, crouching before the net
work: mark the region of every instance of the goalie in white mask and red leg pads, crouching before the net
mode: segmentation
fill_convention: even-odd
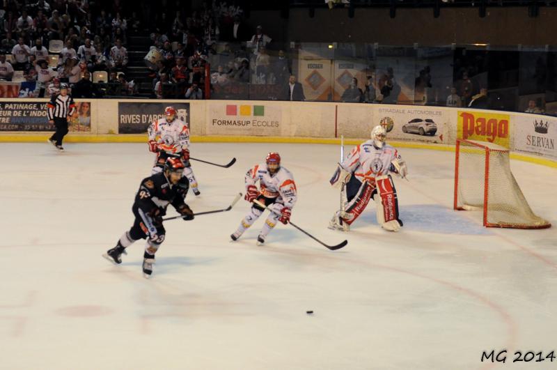
[[[352,149],[338,165],[330,183],[340,189],[345,187],[345,199],[329,222],[329,229],[349,231],[350,224],[361,215],[370,199],[374,199],[379,225],[388,231],[400,230],[402,221],[390,173],[405,178],[408,170],[398,151],[386,144],[385,139],[385,129],[375,126],[371,139]]]

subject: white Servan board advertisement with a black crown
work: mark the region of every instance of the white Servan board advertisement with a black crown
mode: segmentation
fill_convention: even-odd
[[[557,159],[557,120],[546,116],[513,116],[515,151]]]

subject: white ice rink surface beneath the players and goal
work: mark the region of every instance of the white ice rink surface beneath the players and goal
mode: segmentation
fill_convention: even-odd
[[[557,228],[485,229],[480,213],[453,211],[454,153],[400,150],[409,182],[395,178],[399,233],[380,229],[373,203],[339,233],[327,229],[338,146],[194,144],[195,157],[237,157],[230,169],[193,162],[194,212],[228,206],[247,169],[278,151],[297,181],[292,221],[349,243],[331,252],[278,224],[258,247],[263,217],[230,242],[249,210],[242,200],[165,222],[144,279],[143,241],[122,265],[101,254],[132,225],[147,145],[65,148],[0,145],[0,369],[557,369],[557,359],[512,363],[515,350],[557,356]],[[511,168],[557,226],[557,171]],[[503,349],[505,364],[480,361]]]

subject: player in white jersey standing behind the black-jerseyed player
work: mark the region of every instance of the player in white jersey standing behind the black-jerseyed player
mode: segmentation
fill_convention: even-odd
[[[189,128],[184,121],[177,118],[174,107],[166,107],[164,118],[159,118],[150,124],[148,136],[149,150],[157,154],[151,174],[162,171],[166,158],[180,156],[185,162],[184,176],[189,181],[189,187],[194,194],[201,194],[194,171],[189,163]]]

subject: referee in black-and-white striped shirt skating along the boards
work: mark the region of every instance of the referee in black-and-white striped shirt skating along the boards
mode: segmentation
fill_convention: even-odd
[[[56,132],[48,141],[56,146],[58,151],[63,151],[62,139],[68,134],[68,117],[75,111],[74,100],[68,95],[68,84],[60,84],[60,95],[52,96],[47,107],[49,123],[56,127]]]

